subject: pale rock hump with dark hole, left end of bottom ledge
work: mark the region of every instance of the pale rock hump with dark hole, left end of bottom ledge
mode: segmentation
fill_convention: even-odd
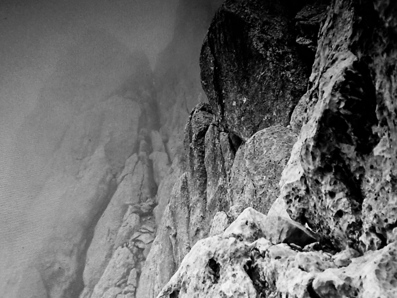
[[[219,236],[199,240],[157,298],[256,298],[243,266],[250,261],[244,241]]]

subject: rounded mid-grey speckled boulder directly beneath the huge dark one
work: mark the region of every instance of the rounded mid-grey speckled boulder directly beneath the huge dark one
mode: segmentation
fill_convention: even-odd
[[[267,213],[279,196],[278,182],[295,141],[295,133],[276,125],[240,146],[231,170],[229,200]]]

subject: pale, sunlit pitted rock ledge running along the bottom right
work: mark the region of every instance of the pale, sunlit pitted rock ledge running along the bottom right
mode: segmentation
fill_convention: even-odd
[[[396,242],[362,257],[302,250],[261,237],[265,215],[253,209],[237,221],[247,216],[248,225],[233,223],[223,235],[199,240],[157,298],[396,296]]]

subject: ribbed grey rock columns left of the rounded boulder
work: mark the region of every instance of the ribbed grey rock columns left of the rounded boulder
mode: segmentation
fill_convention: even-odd
[[[208,235],[215,213],[229,209],[225,163],[232,164],[233,154],[229,140],[225,138],[228,138],[227,134],[213,124],[210,106],[199,103],[190,114],[185,129],[186,161],[177,160],[172,165],[175,174],[181,172],[181,167],[186,168],[186,172],[179,177],[171,196],[164,194],[159,198],[161,201],[155,211],[157,221],[164,203],[168,205],[142,269],[136,297],[157,296],[194,243]],[[174,177],[163,180],[164,190]],[[159,255],[162,257],[158,258]]]

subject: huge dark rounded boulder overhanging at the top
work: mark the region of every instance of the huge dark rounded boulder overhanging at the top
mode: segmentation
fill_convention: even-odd
[[[298,5],[228,0],[216,12],[201,55],[201,84],[218,122],[247,141],[280,124],[306,91],[310,66],[288,25]]]

